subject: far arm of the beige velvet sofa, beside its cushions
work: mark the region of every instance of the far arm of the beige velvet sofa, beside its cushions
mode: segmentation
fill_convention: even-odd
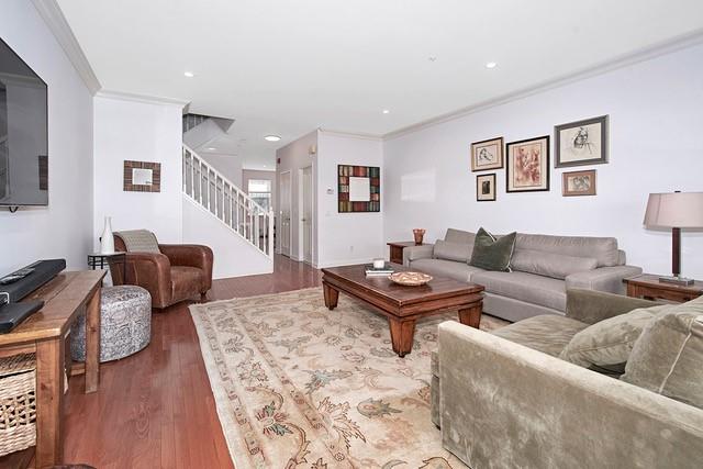
[[[582,323],[595,324],[637,308],[649,308],[657,304],[661,303],[622,294],[574,288],[567,290],[566,315]]]

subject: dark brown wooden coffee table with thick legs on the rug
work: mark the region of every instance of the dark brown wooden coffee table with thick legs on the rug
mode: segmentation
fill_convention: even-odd
[[[393,265],[395,271],[410,270]],[[393,351],[400,357],[413,347],[415,321],[433,314],[457,311],[461,324],[479,327],[483,287],[435,277],[422,287],[402,287],[386,277],[366,277],[364,265],[322,269],[325,306],[337,306],[339,292],[362,300],[388,317]]]

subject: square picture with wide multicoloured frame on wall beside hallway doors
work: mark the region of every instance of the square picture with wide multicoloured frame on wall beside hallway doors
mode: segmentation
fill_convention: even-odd
[[[337,166],[339,213],[381,211],[381,168]]]

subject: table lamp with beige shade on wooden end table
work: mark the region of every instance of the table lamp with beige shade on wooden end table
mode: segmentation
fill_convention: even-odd
[[[645,213],[645,226],[671,228],[671,273],[659,281],[692,284],[681,277],[681,228],[703,227],[703,192],[650,193]]]

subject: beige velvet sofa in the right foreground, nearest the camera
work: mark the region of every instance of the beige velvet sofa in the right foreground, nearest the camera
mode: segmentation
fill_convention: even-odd
[[[492,333],[439,325],[433,421],[479,468],[700,468],[703,410],[556,358],[579,331],[651,302],[570,290],[566,316]]]

